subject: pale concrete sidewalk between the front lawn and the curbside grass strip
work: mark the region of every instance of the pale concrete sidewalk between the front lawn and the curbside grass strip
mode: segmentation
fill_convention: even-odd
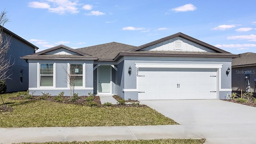
[[[0,128],[0,143],[194,138],[182,125]]]

